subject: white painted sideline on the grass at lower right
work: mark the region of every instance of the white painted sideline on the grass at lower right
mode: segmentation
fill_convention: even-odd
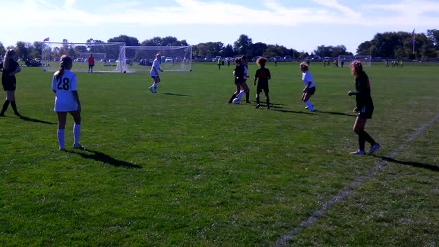
[[[399,152],[401,152],[405,147],[407,147],[407,145],[409,143],[411,143],[416,137],[418,137],[419,134],[421,134],[422,132],[424,132],[424,130],[426,128],[428,128],[431,124],[434,123],[434,121],[439,119],[439,113],[436,114],[436,116],[434,116],[430,121],[428,121],[426,124],[424,124],[423,126],[420,126],[420,128],[418,128],[418,130],[416,130],[416,132],[409,137],[405,143],[401,144],[398,148],[396,148],[396,150],[394,150],[393,152],[390,152],[390,154],[388,154],[386,157],[388,158],[394,158]],[[364,181],[367,178],[370,178],[371,176],[377,174],[377,172],[380,169],[383,169],[383,167],[385,167],[385,165],[387,165],[388,161],[381,161],[380,163],[378,163],[377,165],[375,165],[374,167],[372,167],[370,170],[368,170],[368,172],[366,172],[365,174],[359,176],[359,178],[357,178],[356,180],[354,180],[353,182],[351,182],[349,185],[347,185],[346,187],[344,187],[342,190],[338,191],[335,196],[333,196],[331,199],[329,199],[327,202],[324,202],[322,204],[322,207],[320,207],[320,209],[317,209],[316,211],[314,211],[309,217],[307,217],[306,220],[302,220],[302,222],[300,222],[300,224],[298,226],[296,226],[292,231],[289,231],[289,233],[281,235],[276,244],[274,244],[274,246],[287,246],[288,242],[290,240],[293,239],[293,237],[295,237],[296,235],[298,235],[300,233],[300,230],[302,230],[302,228],[307,228],[309,227],[311,224],[316,223],[323,215],[324,213],[326,213],[329,209],[329,207],[331,207],[333,204],[335,204],[336,202],[340,202],[341,200],[343,200],[344,198],[346,198],[346,196],[350,196],[354,189],[356,187],[358,187],[359,185],[361,185],[362,183],[364,183]]]

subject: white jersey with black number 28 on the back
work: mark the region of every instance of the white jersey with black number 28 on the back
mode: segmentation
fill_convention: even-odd
[[[69,112],[78,110],[78,102],[73,97],[72,91],[76,91],[75,73],[64,70],[59,78],[52,78],[52,90],[56,91],[55,111]]]

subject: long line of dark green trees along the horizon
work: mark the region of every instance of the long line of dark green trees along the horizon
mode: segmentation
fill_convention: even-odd
[[[109,38],[107,42],[125,42],[127,46],[186,46],[189,45],[187,40],[178,40],[174,36],[154,37],[139,42],[135,37],[120,35]],[[414,46],[413,46],[414,42]],[[64,50],[59,52],[67,52],[70,56],[74,56],[75,52],[87,52],[93,43],[104,43],[102,40],[89,38],[86,45],[73,47],[69,40],[62,40]],[[69,47],[69,44],[71,47]],[[87,45],[88,44],[88,45]],[[40,58],[43,42],[35,41],[29,43],[18,41],[16,45],[4,47],[0,42],[0,54],[5,54],[6,49],[15,49],[19,58]],[[427,34],[415,34],[413,40],[410,32],[384,32],[377,33],[372,40],[364,41],[357,47],[356,55],[370,55],[385,58],[407,58],[412,56],[414,47],[414,56],[416,58],[437,58],[439,57],[439,30],[427,30]],[[311,54],[305,51],[297,51],[296,49],[287,48],[283,45],[269,45],[261,42],[253,43],[252,38],[246,34],[241,34],[233,44],[224,45],[224,43],[206,42],[198,43],[192,46],[193,56],[222,56],[233,57],[247,55],[248,57],[257,56],[291,56],[292,58],[308,58],[310,56],[321,57],[337,57],[340,55],[352,56],[351,52],[346,51],[344,45],[319,45]]]

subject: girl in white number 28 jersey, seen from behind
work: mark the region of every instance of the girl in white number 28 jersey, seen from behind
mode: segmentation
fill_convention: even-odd
[[[58,143],[60,150],[64,150],[64,128],[66,126],[67,113],[70,113],[75,121],[73,125],[73,148],[83,150],[80,145],[81,133],[81,103],[76,91],[76,75],[71,72],[73,62],[67,55],[61,57],[60,69],[52,78],[52,91],[56,94],[55,111],[58,115]]]

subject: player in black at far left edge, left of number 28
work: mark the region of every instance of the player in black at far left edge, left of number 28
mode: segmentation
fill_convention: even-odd
[[[16,110],[15,104],[15,74],[21,71],[21,67],[15,60],[16,51],[14,49],[8,49],[3,62],[0,62],[0,71],[3,71],[1,74],[1,84],[3,85],[3,90],[6,91],[6,99],[5,103],[3,103],[3,108],[1,108],[0,117],[5,116],[5,111],[8,110],[9,104],[11,104],[14,114],[19,117],[21,116],[19,111]]]

